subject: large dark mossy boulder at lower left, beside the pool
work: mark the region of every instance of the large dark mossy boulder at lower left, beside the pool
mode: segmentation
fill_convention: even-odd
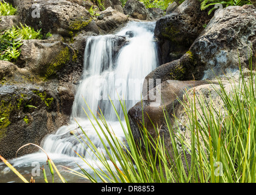
[[[40,144],[48,133],[66,124],[69,115],[60,109],[60,103],[65,102],[60,97],[64,98],[49,86],[0,85],[0,154],[4,158],[14,158],[24,144]],[[35,151],[35,147],[29,147],[19,155]]]

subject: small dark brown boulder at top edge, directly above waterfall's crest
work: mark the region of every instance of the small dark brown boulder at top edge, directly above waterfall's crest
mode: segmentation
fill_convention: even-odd
[[[145,20],[148,18],[148,10],[145,5],[137,0],[128,0],[124,5],[124,14],[135,19]]]

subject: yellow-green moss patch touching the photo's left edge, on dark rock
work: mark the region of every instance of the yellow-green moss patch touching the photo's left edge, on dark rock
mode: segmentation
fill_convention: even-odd
[[[0,140],[5,137],[6,127],[10,125],[10,113],[13,106],[10,102],[1,101],[0,105]]]

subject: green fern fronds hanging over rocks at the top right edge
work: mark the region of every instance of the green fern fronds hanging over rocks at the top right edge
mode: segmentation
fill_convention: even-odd
[[[249,0],[230,0],[230,1],[222,1],[222,0],[199,0],[201,1],[201,10],[208,9],[208,7],[212,7],[208,14],[212,13],[213,10],[219,9],[219,5],[222,5],[223,8],[228,7],[228,6],[243,6],[246,4],[251,4]]]

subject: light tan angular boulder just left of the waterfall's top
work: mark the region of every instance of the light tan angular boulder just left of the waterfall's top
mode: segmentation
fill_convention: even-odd
[[[117,12],[112,7],[108,7],[99,14],[96,24],[105,34],[123,27],[129,21],[126,15]]]

